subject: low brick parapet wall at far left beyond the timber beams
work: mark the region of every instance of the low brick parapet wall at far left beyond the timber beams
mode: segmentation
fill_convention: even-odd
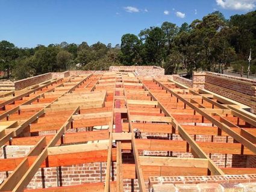
[[[48,81],[51,78],[52,78],[51,73],[45,73],[43,75],[37,75],[37,76],[33,76],[31,78],[21,79],[19,81],[14,82],[15,90],[20,90],[25,87],[30,87],[31,85],[39,84],[40,82],[44,82],[44,81]]]

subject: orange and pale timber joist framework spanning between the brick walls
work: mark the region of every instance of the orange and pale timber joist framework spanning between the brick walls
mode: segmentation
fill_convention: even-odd
[[[256,155],[255,115],[165,76],[102,72],[55,78],[2,94],[0,107],[1,147],[33,146],[25,156],[0,159],[0,172],[7,174],[0,191],[126,191],[127,179],[148,191],[155,176],[256,173],[219,166],[211,156]],[[87,163],[106,163],[102,181],[27,188],[40,169]]]

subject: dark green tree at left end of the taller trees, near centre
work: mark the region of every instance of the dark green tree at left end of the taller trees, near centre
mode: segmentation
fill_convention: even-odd
[[[140,63],[142,41],[134,34],[125,34],[121,38],[120,59],[125,65]]]

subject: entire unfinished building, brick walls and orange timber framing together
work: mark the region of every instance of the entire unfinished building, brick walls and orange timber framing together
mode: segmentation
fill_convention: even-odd
[[[0,191],[256,191],[255,80],[111,66],[0,90]]]

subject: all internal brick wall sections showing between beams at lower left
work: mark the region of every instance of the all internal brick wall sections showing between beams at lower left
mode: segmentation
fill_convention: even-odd
[[[5,146],[0,148],[0,158],[23,157],[33,146]],[[28,188],[48,188],[104,182],[107,162],[76,164],[72,166],[47,167],[37,171]],[[11,172],[0,172],[0,184]],[[111,165],[111,178],[116,179],[116,163]]]

